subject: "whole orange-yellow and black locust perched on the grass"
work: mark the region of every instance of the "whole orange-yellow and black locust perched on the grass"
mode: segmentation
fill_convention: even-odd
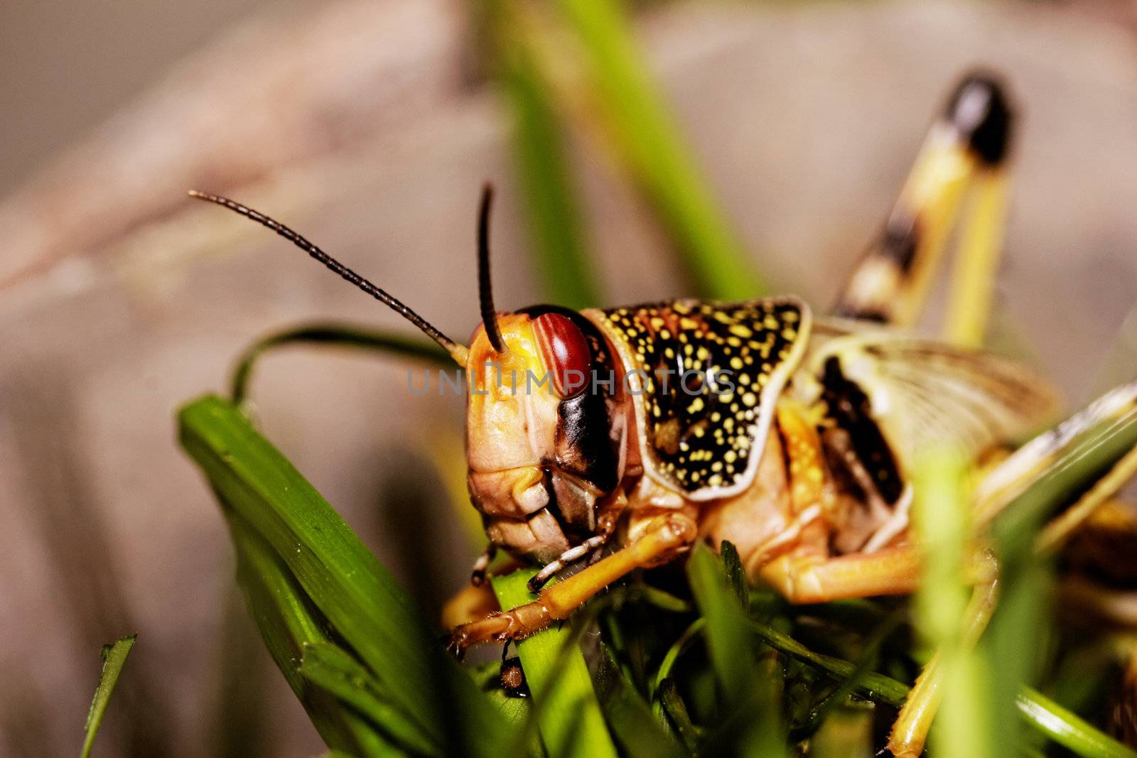
[[[958,85],[883,233],[827,317],[796,297],[500,313],[487,190],[481,324],[463,345],[287,226],[233,200],[191,194],[306,250],[465,372],[467,484],[490,542],[473,583],[499,548],[541,569],[530,584],[537,600],[453,630],[460,653],[534,634],[699,540],[729,540],[749,581],[795,602],[914,591],[921,553],[908,515],[918,456],[952,448],[980,461],[1059,408],[1049,384],[1027,367],[958,344],[976,335],[953,344],[905,331],[972,186],[988,191],[973,211],[980,231],[964,244],[979,258],[997,245],[990,222],[1003,210],[1012,116],[995,78],[976,74]],[[1078,430],[1131,408],[1134,395],[1122,388],[1012,456],[988,480],[987,510]],[[997,578],[981,549],[973,574],[976,601],[964,620],[978,634]],[[937,688],[929,666],[890,735],[894,755],[921,752]]]

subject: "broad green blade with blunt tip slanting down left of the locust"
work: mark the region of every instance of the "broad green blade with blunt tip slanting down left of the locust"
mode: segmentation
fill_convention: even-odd
[[[343,519],[230,402],[180,414],[182,445],[214,489],[284,561],[314,606],[408,718],[447,744],[492,755],[504,722],[445,655],[437,632]]]

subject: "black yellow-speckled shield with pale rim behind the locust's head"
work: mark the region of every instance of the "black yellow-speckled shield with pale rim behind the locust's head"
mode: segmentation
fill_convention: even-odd
[[[762,455],[757,424],[773,410],[762,392],[804,336],[804,307],[678,300],[603,313],[632,355],[625,369],[642,372],[645,463],[684,492],[740,483]]]

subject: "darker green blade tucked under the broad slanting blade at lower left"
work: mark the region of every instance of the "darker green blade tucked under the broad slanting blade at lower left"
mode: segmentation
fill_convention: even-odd
[[[249,525],[232,511],[226,522],[236,549],[236,575],[246,603],[268,653],[329,748],[365,756],[387,756],[395,749],[362,719],[340,708],[327,692],[312,686],[299,673],[305,644],[325,642],[327,620],[319,616],[284,561]]]

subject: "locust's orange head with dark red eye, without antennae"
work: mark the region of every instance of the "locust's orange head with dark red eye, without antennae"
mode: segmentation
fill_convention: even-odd
[[[493,544],[545,564],[596,533],[626,442],[609,356],[599,330],[564,308],[491,313],[478,327],[467,482]]]

